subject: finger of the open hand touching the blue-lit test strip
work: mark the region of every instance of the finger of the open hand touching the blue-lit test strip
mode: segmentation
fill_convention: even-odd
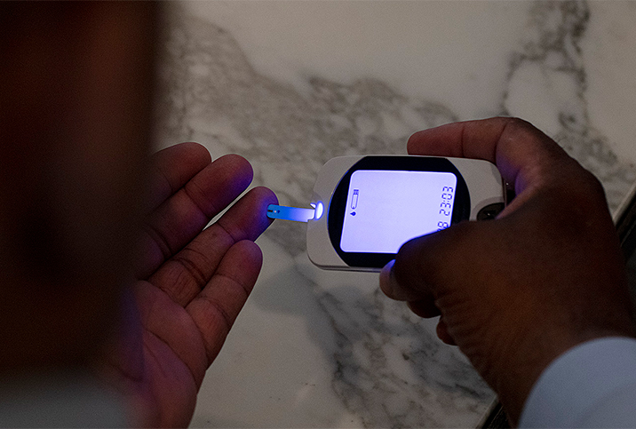
[[[166,261],[148,279],[180,306],[187,306],[216,274],[221,260],[237,242],[254,241],[270,225],[266,209],[277,203],[266,187],[255,187],[235,203],[217,222]]]

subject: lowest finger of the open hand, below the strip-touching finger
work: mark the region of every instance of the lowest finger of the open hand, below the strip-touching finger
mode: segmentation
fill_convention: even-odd
[[[262,264],[258,245],[237,242],[219,265],[205,289],[187,305],[187,312],[201,331],[208,364],[217,357],[236,317],[250,296]]]

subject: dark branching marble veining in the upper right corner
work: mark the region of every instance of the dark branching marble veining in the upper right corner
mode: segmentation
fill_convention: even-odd
[[[589,20],[587,2],[532,6],[529,31],[510,61],[502,114],[524,117],[525,111],[547,107],[551,119],[545,131],[600,179],[614,211],[636,181],[636,169],[619,161],[588,115],[581,42]]]

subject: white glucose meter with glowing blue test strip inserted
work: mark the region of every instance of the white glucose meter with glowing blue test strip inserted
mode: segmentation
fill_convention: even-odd
[[[267,216],[307,222],[307,254],[324,269],[379,271],[404,242],[462,220],[495,218],[505,182],[488,161],[417,155],[331,159],[312,209],[279,205]]]

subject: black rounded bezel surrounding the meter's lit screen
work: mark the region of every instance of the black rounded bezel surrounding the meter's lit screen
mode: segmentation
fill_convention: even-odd
[[[348,266],[381,268],[395,258],[395,253],[368,253],[344,251],[340,248],[342,226],[346,214],[346,198],[351,176],[360,170],[433,171],[449,172],[457,178],[457,189],[450,224],[456,224],[470,216],[470,194],[462,174],[448,159],[433,156],[365,156],[346,171],[338,182],[329,204],[327,227],[330,242],[338,256]]]

